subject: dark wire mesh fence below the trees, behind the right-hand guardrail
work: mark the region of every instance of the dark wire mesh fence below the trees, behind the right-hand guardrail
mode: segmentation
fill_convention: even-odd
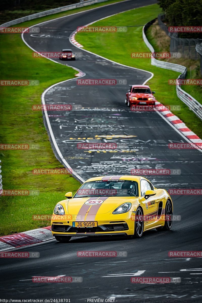
[[[193,60],[200,59],[200,55],[196,51],[196,45],[201,43],[201,39],[178,38],[178,33],[170,33],[168,28],[163,23],[164,15],[158,15],[158,23],[161,29],[171,38],[170,52],[180,52],[183,58]]]

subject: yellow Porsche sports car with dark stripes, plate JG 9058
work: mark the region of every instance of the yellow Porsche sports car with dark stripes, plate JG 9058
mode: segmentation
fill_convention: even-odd
[[[90,178],[56,204],[51,231],[57,241],[75,236],[125,235],[172,227],[173,202],[165,189],[146,178],[120,175]]]

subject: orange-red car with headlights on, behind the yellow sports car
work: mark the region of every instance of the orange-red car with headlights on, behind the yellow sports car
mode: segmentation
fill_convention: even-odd
[[[129,85],[130,89],[127,91],[125,104],[128,107],[132,105],[155,105],[155,97],[148,85]]]

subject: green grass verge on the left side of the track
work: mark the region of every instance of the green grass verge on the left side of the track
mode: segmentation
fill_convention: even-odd
[[[21,23],[31,26],[61,16],[118,1],[108,1]],[[50,221],[34,221],[32,215],[50,215],[55,204],[67,191],[80,183],[71,175],[33,175],[34,168],[62,168],[55,158],[43,123],[42,113],[33,112],[33,104],[41,104],[42,92],[52,84],[74,78],[72,68],[45,58],[33,58],[32,50],[21,35],[2,35],[1,79],[37,79],[39,86],[1,86],[0,140],[2,143],[38,144],[39,149],[0,151],[4,189],[39,190],[38,196],[2,196],[0,198],[0,235],[8,235],[50,225]],[[4,47],[3,47],[4,46]]]

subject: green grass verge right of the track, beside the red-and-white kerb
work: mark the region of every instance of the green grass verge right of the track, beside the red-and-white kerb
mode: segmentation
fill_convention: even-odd
[[[142,8],[136,8],[110,18],[94,23],[95,26],[131,26],[142,25],[156,18],[161,12],[157,4]],[[92,26],[92,25],[91,25]],[[149,37],[150,38],[150,37]],[[142,39],[142,27],[129,27],[127,33],[117,32],[79,32],[76,40],[84,45],[84,49],[113,61],[141,68],[154,73],[154,77],[148,82],[151,89],[156,91],[156,98],[164,105],[180,105],[180,111],[173,111],[186,123],[193,132],[202,138],[202,122],[190,111],[176,95],[175,86],[168,85],[169,79],[176,79],[180,73],[157,68],[151,65],[149,58],[131,58],[133,52],[148,52],[148,48]]]

